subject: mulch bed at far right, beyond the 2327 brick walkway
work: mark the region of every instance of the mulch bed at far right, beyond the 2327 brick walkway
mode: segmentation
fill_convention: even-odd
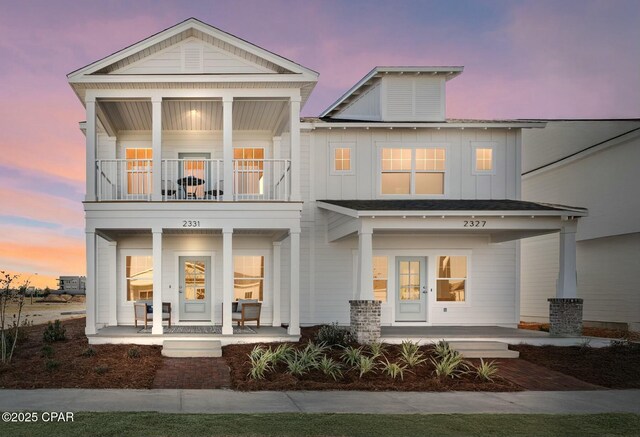
[[[511,345],[520,359],[608,388],[640,388],[640,345],[591,348]]]

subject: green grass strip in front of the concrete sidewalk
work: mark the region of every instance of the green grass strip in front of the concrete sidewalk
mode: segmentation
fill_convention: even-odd
[[[640,415],[76,413],[73,423],[0,423],[5,436],[632,436]]]

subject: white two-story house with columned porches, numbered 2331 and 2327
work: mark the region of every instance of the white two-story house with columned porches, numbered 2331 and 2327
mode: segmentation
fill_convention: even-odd
[[[520,200],[521,130],[544,123],[447,119],[462,71],[377,67],[301,119],[318,73],[189,19],[69,74],[90,341],[161,343],[160,311],[146,337],[103,329],[133,325],[137,301],[227,341],[243,299],[276,339],[348,324],[350,301],[388,326],[514,327],[519,240],[557,232],[557,296],[575,297],[586,211]]]

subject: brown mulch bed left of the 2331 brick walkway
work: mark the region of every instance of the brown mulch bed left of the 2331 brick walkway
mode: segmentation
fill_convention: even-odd
[[[50,343],[53,356],[42,356],[46,325],[24,329],[26,338],[16,347],[9,365],[0,365],[1,388],[151,388],[162,363],[160,346],[93,345],[93,356],[84,334],[85,319],[63,321],[66,340]],[[139,357],[129,358],[131,348]],[[53,368],[47,362],[57,362]]]

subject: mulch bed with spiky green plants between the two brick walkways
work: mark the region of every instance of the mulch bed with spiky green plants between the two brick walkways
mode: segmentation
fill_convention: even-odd
[[[310,338],[312,334],[303,331],[303,338]],[[272,349],[279,343],[265,344]],[[302,343],[305,344],[305,343]],[[343,377],[334,381],[330,376],[319,370],[312,370],[302,377],[296,377],[286,372],[285,366],[280,364],[276,372],[269,372],[265,379],[254,380],[248,375],[251,368],[248,354],[254,344],[229,345],[223,348],[223,356],[231,369],[231,387],[236,390],[367,390],[367,391],[518,391],[518,385],[501,377],[493,382],[483,382],[473,374],[463,375],[461,378],[437,378],[433,376],[433,365],[423,363],[404,372],[404,379],[392,379],[380,370],[368,373],[362,378],[355,370],[344,371]],[[387,345],[384,352],[390,362],[398,362],[398,345]],[[431,347],[422,346],[425,356],[431,356]],[[340,361],[341,350],[332,349],[327,352],[336,361]],[[468,360],[478,364],[479,360]],[[410,370],[410,371],[409,371]]]

